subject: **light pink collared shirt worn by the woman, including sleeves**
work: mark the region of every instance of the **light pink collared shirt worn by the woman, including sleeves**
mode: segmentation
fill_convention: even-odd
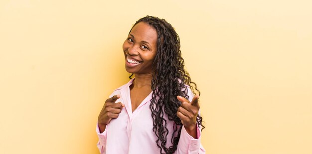
[[[117,119],[112,119],[106,126],[103,133],[100,133],[97,125],[96,132],[99,137],[97,147],[101,154],[159,154],[160,149],[156,145],[157,137],[153,132],[153,119],[150,109],[152,93],[146,97],[139,107],[132,112],[130,89],[134,79],[127,84],[117,88],[110,97],[120,95],[116,101],[125,105]],[[193,94],[188,88],[189,100],[192,100]],[[171,135],[173,132],[173,122],[167,121],[167,148],[171,144]],[[205,154],[205,150],[200,144],[201,132],[197,127],[197,139],[191,137],[182,126],[179,143],[175,154]],[[162,152],[164,153],[164,152]]]

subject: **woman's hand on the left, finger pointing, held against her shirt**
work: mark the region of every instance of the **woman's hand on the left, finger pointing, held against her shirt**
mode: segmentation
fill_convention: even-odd
[[[113,97],[107,99],[104,103],[104,106],[100,112],[98,117],[98,125],[100,129],[100,133],[103,133],[106,125],[113,119],[118,118],[124,104],[121,102],[115,103],[117,99],[120,98],[120,95],[114,95]]]

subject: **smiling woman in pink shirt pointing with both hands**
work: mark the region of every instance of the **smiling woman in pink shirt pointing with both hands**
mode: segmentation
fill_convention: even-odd
[[[112,93],[99,114],[101,154],[204,154],[199,96],[192,93],[196,84],[184,70],[173,27],[164,19],[143,17],[123,51],[131,80]]]

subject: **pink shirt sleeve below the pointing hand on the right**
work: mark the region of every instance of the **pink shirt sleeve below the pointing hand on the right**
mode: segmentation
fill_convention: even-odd
[[[194,139],[186,132],[184,126],[182,126],[180,140],[174,154],[206,154],[206,151],[200,144],[201,132],[198,126],[196,129],[197,139]]]

